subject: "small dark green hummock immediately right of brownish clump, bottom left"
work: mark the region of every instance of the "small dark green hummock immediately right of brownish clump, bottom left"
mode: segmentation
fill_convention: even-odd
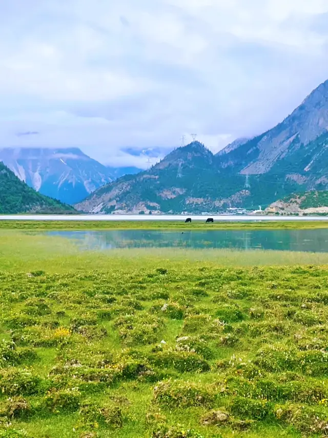
[[[44,405],[51,412],[74,412],[80,406],[80,393],[75,388],[51,391],[45,397]]]

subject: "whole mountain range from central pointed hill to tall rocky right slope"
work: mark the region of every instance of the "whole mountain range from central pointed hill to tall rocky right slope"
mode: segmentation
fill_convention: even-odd
[[[328,81],[291,115],[213,155],[192,142],[156,165],[98,188],[77,210],[93,213],[204,212],[258,208],[328,185]]]

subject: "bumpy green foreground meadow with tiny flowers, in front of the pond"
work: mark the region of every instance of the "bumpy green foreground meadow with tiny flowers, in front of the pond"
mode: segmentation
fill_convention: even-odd
[[[328,254],[81,252],[18,225],[0,230],[0,437],[328,434]]]

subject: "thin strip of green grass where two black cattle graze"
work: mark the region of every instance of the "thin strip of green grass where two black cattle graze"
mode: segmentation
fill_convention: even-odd
[[[214,222],[193,221],[25,221],[2,220],[0,230],[316,230],[328,227],[323,221],[261,221],[258,222]]]

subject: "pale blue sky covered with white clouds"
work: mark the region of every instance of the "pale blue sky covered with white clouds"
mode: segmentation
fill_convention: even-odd
[[[0,147],[216,152],[328,79],[327,23],[327,0],[4,0]]]

